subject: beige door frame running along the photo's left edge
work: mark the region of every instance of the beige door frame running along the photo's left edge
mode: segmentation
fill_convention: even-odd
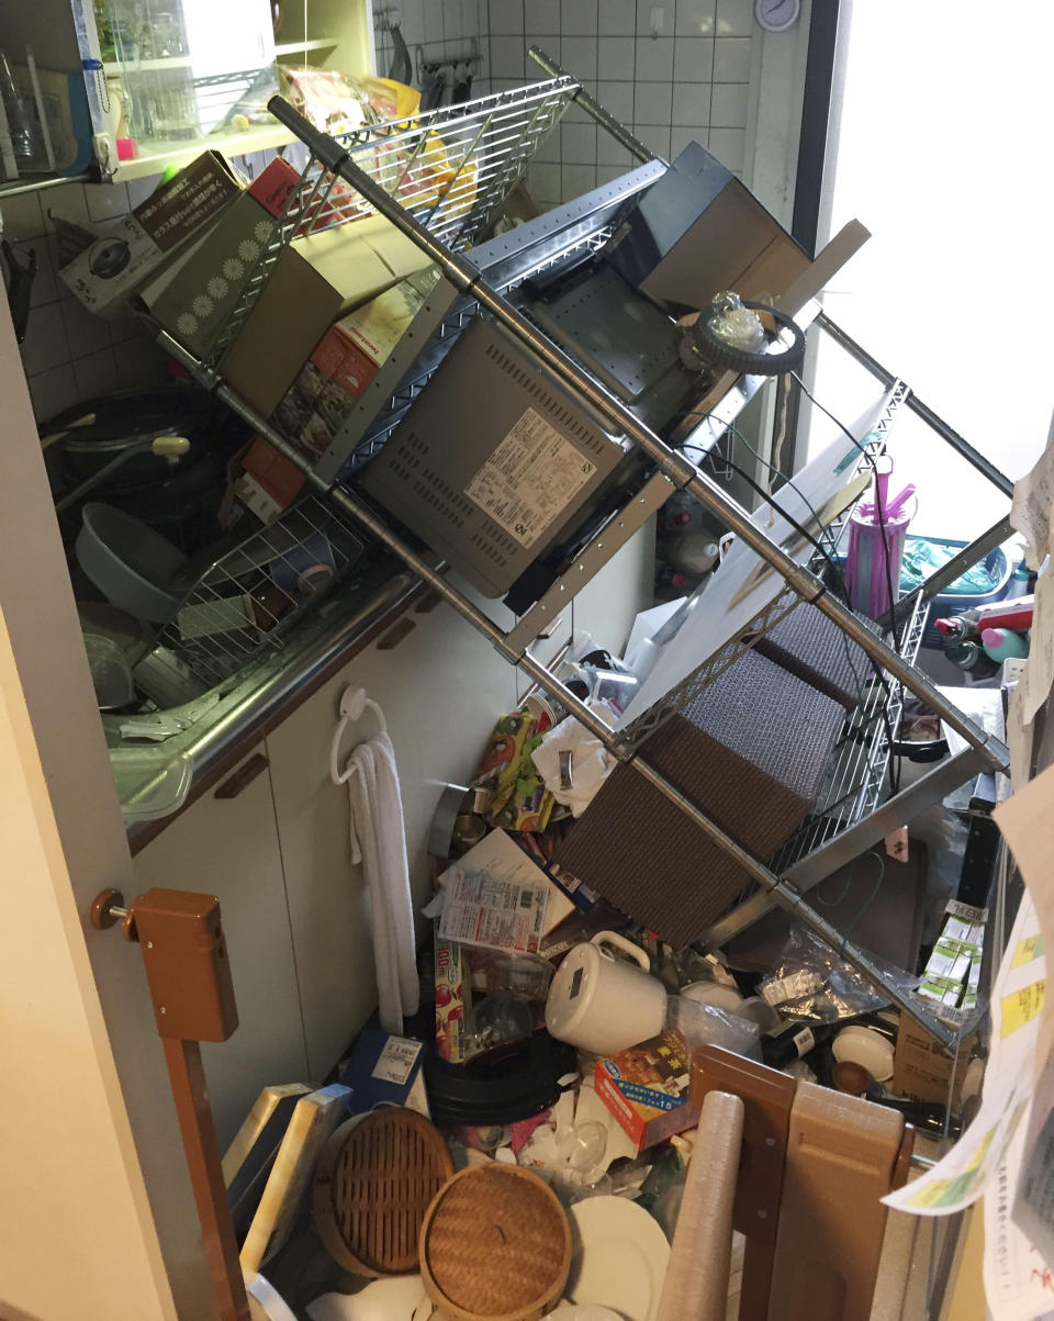
[[[98,1196],[115,1209],[108,1226],[112,1250],[86,1264],[78,1251],[91,1238],[86,1230],[85,1244],[53,1244],[52,1269],[75,1263],[70,1272],[81,1279],[70,1287],[83,1297],[92,1281],[127,1281],[129,1316],[211,1321],[190,1180],[141,958],[116,931],[95,931],[87,921],[100,889],[132,892],[132,861],[5,305],[0,399],[0,786],[9,803],[22,804],[8,822],[12,834],[0,832],[9,896],[0,960],[37,946],[42,959],[62,950],[63,984],[79,991],[78,1012],[58,1020],[62,1036],[50,1053],[33,1055],[33,1075],[18,1079],[17,1092],[29,1125],[34,1092],[44,1098],[49,1087],[62,1089],[70,1112],[83,1091],[106,1116],[98,1151],[85,1149],[70,1114],[69,1127],[50,1133],[46,1159],[41,1148],[44,1165],[34,1186],[5,1186],[5,1206],[20,1209],[8,1211],[13,1238],[0,1244],[0,1260],[7,1254],[17,1264],[20,1242],[26,1252],[34,1242],[48,1242],[52,1211],[71,1189],[90,1192],[95,1180]],[[42,996],[26,996],[18,1020],[4,1032],[16,1048],[26,1048],[37,1030],[55,1026]],[[70,1058],[81,1062],[79,1073],[63,1059],[67,1045],[77,1048]],[[17,1071],[17,1058],[9,1063]],[[3,1108],[0,1120],[0,1147],[17,1155],[20,1135]],[[110,1160],[100,1164],[103,1151]],[[0,1280],[5,1276],[17,1279],[0,1269]],[[5,1305],[32,1313],[29,1297],[8,1299],[3,1291],[0,1285],[0,1313]]]

